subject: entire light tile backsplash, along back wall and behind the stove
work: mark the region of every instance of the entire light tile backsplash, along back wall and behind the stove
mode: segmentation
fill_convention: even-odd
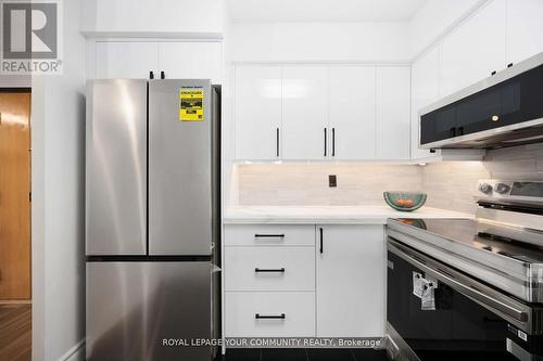
[[[383,191],[424,191],[428,205],[475,212],[479,179],[543,180],[543,144],[489,151],[483,162],[419,165],[363,163],[238,164],[238,205],[377,205]],[[328,186],[336,175],[337,188]]]

